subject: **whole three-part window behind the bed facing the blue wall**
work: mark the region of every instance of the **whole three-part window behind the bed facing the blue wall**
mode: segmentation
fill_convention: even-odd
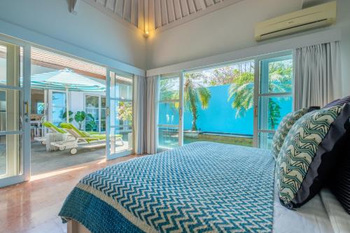
[[[283,52],[161,76],[158,147],[214,141],[270,148],[292,111],[292,68]]]

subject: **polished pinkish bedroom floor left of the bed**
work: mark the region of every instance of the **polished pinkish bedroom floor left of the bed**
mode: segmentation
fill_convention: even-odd
[[[64,199],[80,178],[110,164],[138,155],[106,162],[97,160],[31,177],[31,181],[0,189],[0,232],[66,232],[57,216]]]

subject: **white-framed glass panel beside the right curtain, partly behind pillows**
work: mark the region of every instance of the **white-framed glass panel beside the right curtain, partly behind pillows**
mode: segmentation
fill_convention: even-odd
[[[258,146],[269,149],[283,117],[293,109],[293,59],[286,55],[260,59],[258,93]]]

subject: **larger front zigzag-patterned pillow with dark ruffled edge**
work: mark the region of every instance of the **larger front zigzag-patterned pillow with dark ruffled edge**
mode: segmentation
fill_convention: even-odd
[[[342,106],[312,111],[288,132],[276,161],[279,199],[288,209],[302,206],[321,189],[327,169],[321,169],[323,174],[318,170],[328,166],[323,157],[330,154],[336,140],[330,138],[334,133],[327,135],[341,111]]]

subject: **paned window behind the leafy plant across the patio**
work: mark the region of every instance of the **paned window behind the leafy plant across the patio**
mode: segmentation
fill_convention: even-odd
[[[106,131],[106,97],[85,95],[85,130],[95,132]]]

